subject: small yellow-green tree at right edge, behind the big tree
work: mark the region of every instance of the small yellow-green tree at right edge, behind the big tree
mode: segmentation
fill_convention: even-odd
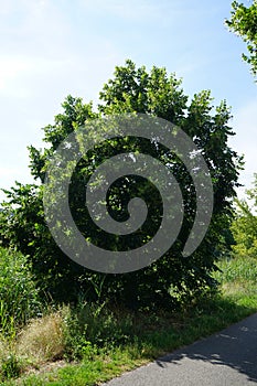
[[[246,191],[247,200],[236,200],[236,217],[232,224],[236,255],[257,258],[257,174],[254,187]]]

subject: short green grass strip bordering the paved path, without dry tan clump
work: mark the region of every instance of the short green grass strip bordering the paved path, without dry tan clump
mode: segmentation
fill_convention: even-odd
[[[98,385],[256,312],[257,260],[253,258],[223,260],[219,262],[219,268],[222,272],[216,272],[215,277],[221,282],[221,293],[205,296],[201,301],[176,314],[144,312],[133,315],[131,317],[133,334],[122,344],[110,340],[109,344],[99,349],[99,345],[86,342],[88,344],[83,346],[83,360],[78,363],[73,362],[52,372],[43,372],[40,368],[36,374],[7,379],[1,385]],[[125,317],[119,318],[122,324]],[[126,318],[128,319],[128,315]],[[117,321],[111,324],[109,319],[106,319],[105,323],[108,329],[111,325],[113,329],[118,328]],[[100,324],[98,328],[100,329]],[[108,329],[106,331],[111,331]],[[117,331],[114,333],[117,334]]]

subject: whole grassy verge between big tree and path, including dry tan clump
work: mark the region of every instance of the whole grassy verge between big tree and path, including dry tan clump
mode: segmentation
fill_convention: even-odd
[[[64,308],[35,320],[18,336],[12,356],[2,362],[1,385],[99,385],[222,330],[257,311],[256,262],[239,257],[221,261],[222,272],[215,272],[221,292],[176,314],[130,314],[84,304],[75,315]]]

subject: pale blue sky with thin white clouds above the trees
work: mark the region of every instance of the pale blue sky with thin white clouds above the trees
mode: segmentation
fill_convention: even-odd
[[[224,25],[229,14],[227,0],[0,0],[0,187],[33,182],[26,147],[44,146],[41,129],[67,95],[96,105],[126,58],[175,73],[189,96],[211,89],[215,105],[227,100],[229,144],[245,154],[239,181],[250,187],[257,84],[245,44]]]

